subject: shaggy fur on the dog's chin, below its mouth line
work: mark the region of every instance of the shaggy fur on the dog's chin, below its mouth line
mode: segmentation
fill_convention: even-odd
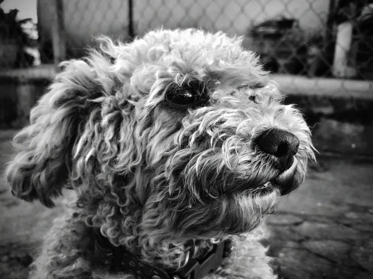
[[[209,239],[249,232],[264,215],[275,210],[280,195],[278,188],[269,185],[198,203],[174,212],[170,231],[177,239]]]

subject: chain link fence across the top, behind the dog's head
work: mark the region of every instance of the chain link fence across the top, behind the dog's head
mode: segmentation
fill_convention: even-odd
[[[373,0],[35,1],[37,25],[28,30],[29,20],[14,11],[0,15],[2,73],[53,75],[48,65],[83,56],[97,34],[127,41],[151,29],[195,27],[243,36],[265,68],[290,75],[277,79],[294,90],[325,90],[329,78],[338,78],[344,94],[373,91]]]

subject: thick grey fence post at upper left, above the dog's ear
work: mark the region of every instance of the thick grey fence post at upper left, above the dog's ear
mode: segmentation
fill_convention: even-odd
[[[54,0],[56,20],[52,23],[52,44],[54,64],[57,66],[66,58],[66,35],[64,25],[63,0]]]

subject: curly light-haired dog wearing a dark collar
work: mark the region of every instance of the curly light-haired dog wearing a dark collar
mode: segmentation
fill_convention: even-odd
[[[78,192],[31,277],[183,279],[193,262],[187,278],[276,278],[258,242],[266,230],[253,229],[313,158],[300,112],[240,38],[99,41],[62,63],[15,137],[14,195],[50,207],[64,188]]]

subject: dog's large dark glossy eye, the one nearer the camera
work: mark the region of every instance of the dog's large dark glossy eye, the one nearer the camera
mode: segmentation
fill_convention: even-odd
[[[168,90],[166,99],[179,107],[198,107],[208,101],[208,92],[199,82],[190,81],[181,88],[173,87]]]

